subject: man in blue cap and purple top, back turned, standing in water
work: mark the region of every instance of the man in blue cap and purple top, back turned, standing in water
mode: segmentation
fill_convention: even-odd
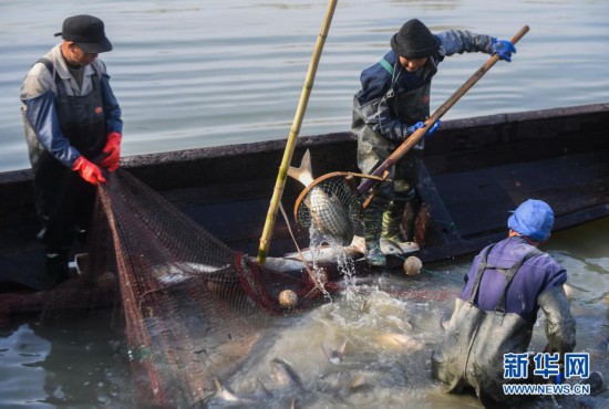
[[[448,392],[471,387],[485,407],[518,403],[522,397],[503,391],[512,381],[505,378],[504,354],[527,352],[539,310],[546,317],[545,353],[562,359],[574,350],[576,323],[564,290],[567,271],[538,250],[553,224],[554,211],[546,202],[526,200],[508,218],[508,237],[474,259],[445,338],[432,354],[432,375]],[[534,368],[527,368],[528,378],[515,381],[544,379],[533,379]]]

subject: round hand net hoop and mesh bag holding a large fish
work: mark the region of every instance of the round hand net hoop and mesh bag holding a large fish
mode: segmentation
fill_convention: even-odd
[[[349,245],[362,235],[362,204],[353,174],[332,172],[317,178],[295,204],[296,221],[303,228],[316,228],[330,244]]]

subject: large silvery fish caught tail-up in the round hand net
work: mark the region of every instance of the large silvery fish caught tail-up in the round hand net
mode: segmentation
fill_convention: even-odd
[[[304,187],[313,182],[311,153],[304,153],[298,168],[290,166],[288,176],[300,181]],[[309,190],[303,199],[309,209],[311,222],[330,244],[348,245],[353,240],[354,230],[343,203],[336,193],[326,192],[320,185]]]

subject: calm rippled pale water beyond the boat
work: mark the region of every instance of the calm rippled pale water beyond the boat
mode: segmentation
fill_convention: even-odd
[[[0,2],[0,170],[29,166],[19,86],[53,46],[66,15],[106,23],[102,54],[125,122],[125,155],[287,138],[327,9],[324,0]],[[32,17],[35,15],[35,19]],[[444,118],[609,101],[606,0],[338,1],[300,135],[348,130],[361,71],[389,51],[406,19],[432,31],[512,38],[495,65]],[[434,78],[437,108],[487,59],[447,59]]]

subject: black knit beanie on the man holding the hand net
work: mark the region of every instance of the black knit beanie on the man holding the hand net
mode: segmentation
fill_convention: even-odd
[[[420,20],[412,19],[391,38],[391,49],[406,59],[420,59],[435,53],[440,39]]]

